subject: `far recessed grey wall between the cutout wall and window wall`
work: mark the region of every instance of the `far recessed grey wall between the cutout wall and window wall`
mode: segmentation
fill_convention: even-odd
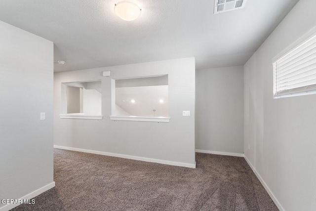
[[[196,71],[196,149],[243,153],[243,67]]]

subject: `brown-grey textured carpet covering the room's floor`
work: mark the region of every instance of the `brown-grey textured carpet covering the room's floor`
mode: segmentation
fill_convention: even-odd
[[[54,150],[56,187],[12,211],[277,211],[243,158],[197,153],[189,169]]]

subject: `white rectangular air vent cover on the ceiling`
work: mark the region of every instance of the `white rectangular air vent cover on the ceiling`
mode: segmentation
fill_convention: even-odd
[[[241,9],[245,3],[246,0],[215,0],[214,14]]]

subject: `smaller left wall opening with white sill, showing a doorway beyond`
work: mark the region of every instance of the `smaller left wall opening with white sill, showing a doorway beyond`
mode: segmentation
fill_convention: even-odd
[[[102,119],[101,81],[63,83],[62,87],[61,118]]]

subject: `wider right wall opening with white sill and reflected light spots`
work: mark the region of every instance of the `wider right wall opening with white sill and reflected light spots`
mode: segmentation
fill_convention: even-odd
[[[168,76],[117,79],[114,102],[112,120],[168,122]]]

